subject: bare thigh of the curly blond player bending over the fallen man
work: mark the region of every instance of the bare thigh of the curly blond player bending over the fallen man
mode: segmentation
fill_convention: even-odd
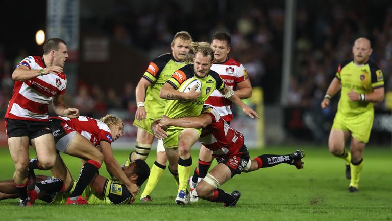
[[[100,161],[101,163],[104,160],[102,153],[94,145],[92,145],[87,138],[83,137],[83,135],[78,132],[69,142],[64,153],[84,160]]]

